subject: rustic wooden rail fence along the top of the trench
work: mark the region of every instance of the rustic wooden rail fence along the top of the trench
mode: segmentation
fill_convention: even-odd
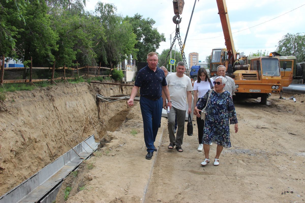
[[[76,61],[77,63],[77,61]],[[80,69],[83,69],[83,68],[87,68],[88,71],[87,71],[87,74],[84,74],[84,75],[79,75],[78,73],[78,70]],[[97,75],[90,75],[89,74],[89,68],[95,68],[95,73],[98,73]],[[4,80],[3,77],[4,77],[4,71],[5,70],[18,70],[18,69],[30,69],[30,79],[19,79],[19,80]],[[32,79],[32,70],[33,69],[52,69],[52,76],[51,76],[51,79]],[[58,69],[63,69],[63,77],[59,77],[59,78],[54,78],[54,72],[55,72],[55,69],[58,70]],[[86,65],[86,66],[83,66],[83,67],[80,67],[78,68],[78,63],[77,63],[77,67],[76,68],[69,68],[69,67],[66,67],[65,65],[63,67],[59,67],[59,68],[55,68],[55,61],[53,62],[53,67],[32,67],[32,57],[31,57],[31,63],[30,63],[30,67],[16,67],[16,68],[4,68],[4,55],[2,55],[2,66],[1,66],[1,80],[0,80],[0,84],[3,85],[3,83],[19,83],[19,82],[30,82],[31,84],[34,85],[33,82],[41,82],[41,81],[48,81],[48,82],[51,82],[52,84],[55,83],[55,80],[64,80],[64,82],[67,82],[67,79],[75,79],[74,77],[66,77],[66,69],[69,69],[69,70],[76,70],[77,71],[77,76],[78,77],[83,77],[83,76],[86,76],[87,78],[89,77],[96,77],[96,76],[112,76],[110,75],[111,71],[114,69],[114,68],[106,68],[106,67],[101,67],[101,63],[99,63],[99,66],[89,66],[89,65]],[[109,72],[109,75],[99,75],[100,73],[100,69],[109,69],[110,72]]]

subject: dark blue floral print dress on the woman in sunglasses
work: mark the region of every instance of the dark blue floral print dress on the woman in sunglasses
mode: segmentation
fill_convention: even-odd
[[[206,105],[209,92],[197,102],[196,106],[198,109],[201,110]],[[225,148],[230,148],[229,125],[238,123],[232,96],[228,91],[218,94],[212,90],[206,109],[203,144],[209,145],[213,142]]]

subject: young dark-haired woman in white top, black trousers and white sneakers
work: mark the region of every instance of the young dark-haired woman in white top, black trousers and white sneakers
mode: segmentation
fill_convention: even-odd
[[[196,103],[198,100],[203,97],[207,91],[209,91],[211,88],[213,88],[213,79],[209,77],[209,75],[206,72],[205,68],[199,68],[198,70],[198,79],[194,82],[194,107],[196,107]],[[201,111],[200,111],[201,113]],[[200,114],[199,113],[199,114]],[[194,114],[196,115],[196,112],[194,110]],[[203,136],[203,128],[204,128],[204,120],[201,120],[201,118],[196,117],[197,121],[197,128],[198,128],[198,140],[199,140],[199,147],[198,151],[203,150],[203,143],[202,143],[202,136]],[[212,145],[212,144],[210,144]]]

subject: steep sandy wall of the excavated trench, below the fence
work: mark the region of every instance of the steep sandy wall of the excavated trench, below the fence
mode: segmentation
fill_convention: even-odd
[[[0,196],[95,130],[101,147],[110,142],[107,131],[126,120],[129,108],[125,100],[101,102],[95,94],[128,95],[131,88],[84,82],[8,93],[0,111]]]

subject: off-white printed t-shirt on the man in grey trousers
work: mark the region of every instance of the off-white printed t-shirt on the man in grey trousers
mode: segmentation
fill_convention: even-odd
[[[170,99],[172,100],[172,106],[180,109],[186,110],[187,107],[187,94],[186,91],[192,91],[191,79],[183,75],[179,78],[177,74],[168,74],[166,77],[166,82],[168,85],[168,90],[170,92]]]

